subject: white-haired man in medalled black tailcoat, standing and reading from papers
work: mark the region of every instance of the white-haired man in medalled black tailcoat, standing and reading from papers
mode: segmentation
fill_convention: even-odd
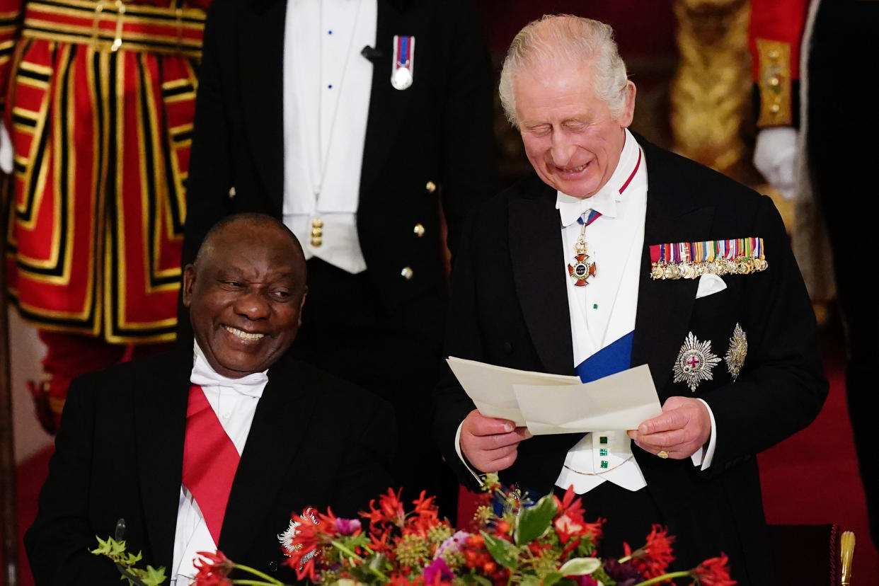
[[[469,219],[447,353],[595,380],[650,365],[663,413],[637,430],[532,437],[482,416],[451,373],[435,427],[462,481],[573,486],[607,553],[677,536],[771,582],[754,456],[817,415],[827,383],[772,201],[628,131],[636,89],[609,26],[546,17],[512,42],[501,99],[536,177]]]

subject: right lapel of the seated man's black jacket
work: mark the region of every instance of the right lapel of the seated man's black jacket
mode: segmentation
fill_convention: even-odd
[[[269,370],[269,381],[259,399],[251,431],[238,463],[220,533],[220,549],[234,559],[253,542],[256,532],[265,530],[265,517],[277,501],[277,494],[299,450],[314,397],[307,389],[315,386],[291,358],[282,358]]]

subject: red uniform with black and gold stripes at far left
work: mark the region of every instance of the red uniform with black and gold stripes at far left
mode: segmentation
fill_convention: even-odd
[[[0,0],[6,271],[48,347],[32,390],[49,429],[73,376],[174,339],[209,3]]]

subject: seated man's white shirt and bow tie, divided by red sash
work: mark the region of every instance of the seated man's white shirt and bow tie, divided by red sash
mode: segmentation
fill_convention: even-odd
[[[249,374],[241,379],[229,379],[218,374],[207,363],[199,344],[194,344],[193,373],[190,382],[200,385],[207,402],[216,413],[226,435],[232,440],[238,455],[243,452],[251,432],[253,415],[259,398],[263,396],[268,371]],[[180,485],[177,510],[177,530],[174,532],[174,561],[171,566],[171,586],[187,586],[193,582],[196,570],[193,560],[198,552],[216,551],[214,538],[207,530],[205,517],[192,493]]]

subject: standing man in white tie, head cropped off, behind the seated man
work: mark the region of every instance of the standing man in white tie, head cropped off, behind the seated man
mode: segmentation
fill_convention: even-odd
[[[458,486],[429,432],[447,248],[495,189],[474,4],[216,2],[186,184],[184,264],[228,213],[269,213],[299,237],[313,294],[294,353],[391,402],[395,475],[448,517]]]

